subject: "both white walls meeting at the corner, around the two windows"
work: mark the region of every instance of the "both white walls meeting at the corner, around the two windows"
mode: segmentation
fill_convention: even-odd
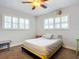
[[[55,12],[39,16],[38,19],[29,14],[25,14],[13,9],[0,6],[0,40],[12,40],[11,45],[20,44],[23,40],[34,38],[35,34],[56,33],[63,35],[63,42],[65,47],[75,49],[76,37],[79,35],[79,4],[63,8],[64,15],[70,17],[69,30],[44,30],[43,20],[50,17],[55,17]],[[2,29],[2,16],[10,15],[17,17],[24,17],[30,20],[30,30],[4,30]],[[36,20],[35,20],[36,19]],[[37,27],[37,28],[36,28]]]

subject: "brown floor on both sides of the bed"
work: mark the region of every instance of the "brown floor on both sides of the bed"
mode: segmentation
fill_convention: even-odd
[[[39,59],[38,57],[22,52],[21,47],[13,47],[8,50],[0,51],[0,59]],[[76,59],[75,52],[69,49],[61,48],[51,59]],[[79,56],[77,57],[79,59]]]

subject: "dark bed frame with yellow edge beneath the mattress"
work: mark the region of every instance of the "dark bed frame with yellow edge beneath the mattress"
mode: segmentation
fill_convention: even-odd
[[[62,47],[62,44],[60,44],[60,45],[59,45],[58,47],[56,47],[56,48],[53,48],[53,49],[52,49],[52,53],[49,55],[49,57],[44,56],[44,55],[40,55],[40,54],[38,54],[37,52],[33,51],[32,49],[26,48],[24,45],[22,45],[21,48],[22,48],[22,51],[23,51],[23,50],[27,50],[27,51],[33,53],[34,55],[40,57],[41,59],[49,59],[49,58],[50,58],[52,55],[54,55],[61,47]]]

